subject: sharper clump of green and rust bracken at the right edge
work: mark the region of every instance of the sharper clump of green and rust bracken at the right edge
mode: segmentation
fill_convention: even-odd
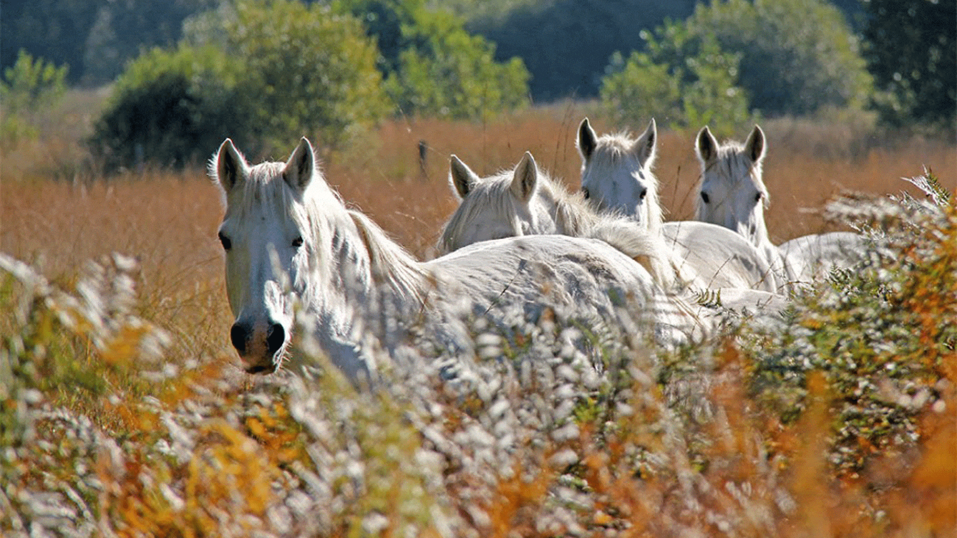
[[[908,181],[934,203],[904,194],[829,204],[872,248],[855,270],[798,295],[789,323],[754,350],[756,397],[786,420],[804,407],[808,372],[823,373],[835,396],[831,460],[846,473],[920,436],[917,412],[940,397],[957,358],[957,211],[930,172]]]

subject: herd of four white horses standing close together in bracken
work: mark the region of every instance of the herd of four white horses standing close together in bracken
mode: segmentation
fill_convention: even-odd
[[[549,310],[614,325],[624,309],[641,321],[630,330],[675,346],[707,333],[726,308],[777,315],[794,286],[853,266],[865,248],[850,233],[771,243],[758,126],[744,145],[720,145],[701,129],[693,221],[663,221],[654,120],[633,139],[598,136],[586,119],[577,146],[579,192],[528,152],[490,177],[453,155],[460,203],[442,230],[441,256],[419,261],[345,207],[305,138],[287,162],[255,166],[227,139],[210,171],[226,210],[219,239],[245,370],[277,370],[301,346],[297,331],[353,379],[375,377],[382,351],[401,362],[425,347],[467,363],[476,360],[470,320],[515,326]],[[720,306],[702,306],[702,292]]]

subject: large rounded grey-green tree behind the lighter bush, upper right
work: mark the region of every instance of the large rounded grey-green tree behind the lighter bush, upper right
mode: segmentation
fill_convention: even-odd
[[[857,37],[822,0],[719,0],[699,4],[687,24],[742,54],[738,83],[766,115],[860,108],[871,95]]]

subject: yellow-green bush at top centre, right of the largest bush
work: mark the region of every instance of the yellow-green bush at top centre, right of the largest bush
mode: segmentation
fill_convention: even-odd
[[[522,60],[496,62],[495,46],[425,0],[339,0],[361,17],[379,46],[386,90],[404,114],[478,119],[526,101]]]

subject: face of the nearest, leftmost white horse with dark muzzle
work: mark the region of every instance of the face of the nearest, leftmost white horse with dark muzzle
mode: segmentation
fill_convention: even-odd
[[[302,170],[290,169],[305,165],[294,159],[312,163],[311,146],[300,144],[285,168],[249,168],[232,143],[217,156],[216,178],[226,199],[218,235],[235,317],[230,339],[250,373],[278,369],[291,340],[295,298],[305,293],[311,241],[296,211],[305,184],[296,183]]]

